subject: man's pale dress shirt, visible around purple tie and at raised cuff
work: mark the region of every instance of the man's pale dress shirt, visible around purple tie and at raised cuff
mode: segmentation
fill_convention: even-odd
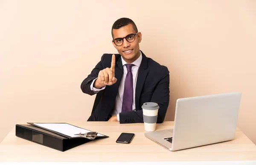
[[[115,101],[115,105],[114,105],[114,110],[112,112],[112,116],[116,115],[117,116],[117,121],[119,122],[119,113],[122,112],[122,100],[123,100],[123,95],[124,95],[124,88],[125,88],[125,78],[126,78],[126,75],[127,75],[127,68],[125,66],[125,64],[127,64],[124,59],[122,58],[121,56],[121,60],[122,60],[122,65],[123,65],[123,75],[122,75],[122,78],[121,78],[121,82],[120,82],[120,85],[119,85],[119,89],[118,89],[118,93],[116,95],[116,101]],[[134,66],[131,67],[131,73],[132,73],[132,78],[133,78],[133,101],[132,101],[132,110],[135,111],[135,88],[136,88],[136,82],[137,82],[137,77],[138,77],[138,70],[139,70],[139,67],[140,67],[140,64],[141,64],[141,61],[142,61],[142,54],[140,52],[140,57],[137,58],[137,60],[135,60],[133,63],[131,64],[134,64]],[[95,93],[98,93],[99,91],[101,90],[104,90],[106,86],[100,88],[100,89],[96,89],[93,87],[93,83],[94,81],[96,80],[97,78],[95,78],[92,82],[92,84],[90,85],[90,89],[95,92]]]

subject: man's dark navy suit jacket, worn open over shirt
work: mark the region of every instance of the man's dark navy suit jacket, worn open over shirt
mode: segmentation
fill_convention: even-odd
[[[115,77],[116,83],[106,86],[104,90],[97,93],[91,116],[87,121],[108,121],[111,118],[119,84],[123,74],[121,55],[116,55]],[[98,77],[99,71],[111,67],[112,54],[102,55],[101,61],[92,70],[90,75],[81,83],[83,93],[94,95],[90,90],[90,84]],[[119,121],[122,123],[139,123],[143,122],[142,105],[145,102],[155,102],[159,105],[157,123],[162,123],[166,110],[169,105],[169,70],[147,58],[142,52],[142,61],[138,70],[137,83],[135,89],[135,107],[136,111],[119,113]]]

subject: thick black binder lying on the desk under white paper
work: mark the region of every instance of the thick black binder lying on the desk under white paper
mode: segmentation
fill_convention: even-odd
[[[84,143],[90,142],[92,140],[108,137],[105,135],[97,136],[95,139],[87,139],[84,137],[70,137],[31,124],[32,123],[16,124],[16,136],[62,152],[82,145]]]

